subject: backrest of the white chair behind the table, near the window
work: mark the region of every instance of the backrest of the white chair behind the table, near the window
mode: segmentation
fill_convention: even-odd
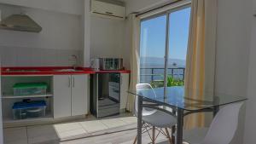
[[[155,92],[154,92],[154,89],[152,88],[152,86],[150,84],[136,84],[136,91],[137,93],[139,93],[140,90],[143,90],[143,89],[152,89],[152,94],[151,95],[155,95]],[[134,105],[134,109],[135,109],[135,114],[137,116],[137,96],[135,98],[135,105]],[[154,109],[151,109],[151,108],[143,108],[143,116],[146,116],[146,115],[151,115],[153,114],[154,112],[156,112],[157,110],[154,110]]]

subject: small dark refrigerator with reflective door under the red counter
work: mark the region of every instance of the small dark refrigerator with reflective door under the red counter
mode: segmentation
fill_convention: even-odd
[[[118,115],[120,109],[120,73],[96,73],[90,81],[90,112],[96,118]]]

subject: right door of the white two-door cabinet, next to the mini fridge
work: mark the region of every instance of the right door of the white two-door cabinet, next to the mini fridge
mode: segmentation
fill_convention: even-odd
[[[87,114],[89,75],[72,76],[72,116]]]

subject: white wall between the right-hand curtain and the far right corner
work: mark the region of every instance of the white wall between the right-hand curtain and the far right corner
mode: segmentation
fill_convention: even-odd
[[[220,93],[247,95],[251,5],[251,0],[218,0],[215,90]],[[231,143],[243,143],[244,117],[243,107],[239,128]]]

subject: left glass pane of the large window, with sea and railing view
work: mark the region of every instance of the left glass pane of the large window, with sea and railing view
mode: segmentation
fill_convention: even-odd
[[[166,15],[141,22],[140,83],[163,84],[166,52]]]

